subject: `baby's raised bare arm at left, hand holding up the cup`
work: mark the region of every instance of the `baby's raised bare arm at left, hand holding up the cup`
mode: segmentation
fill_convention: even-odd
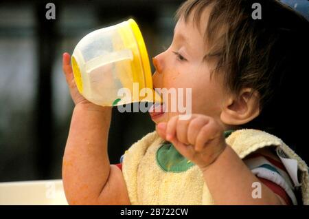
[[[107,154],[111,107],[94,105],[80,96],[69,54],[64,54],[63,70],[76,104],[62,164],[67,200],[75,205],[130,205],[122,172],[110,165]]]

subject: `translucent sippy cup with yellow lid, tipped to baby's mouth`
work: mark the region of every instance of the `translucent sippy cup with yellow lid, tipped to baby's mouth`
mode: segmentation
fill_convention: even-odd
[[[133,19],[84,36],[73,51],[71,63],[78,91],[92,103],[161,102],[152,88],[148,53]],[[143,89],[148,92],[141,92]]]

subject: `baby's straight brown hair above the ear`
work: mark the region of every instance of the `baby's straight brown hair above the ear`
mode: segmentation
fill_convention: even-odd
[[[205,60],[216,58],[215,72],[225,72],[225,83],[231,92],[238,94],[242,87],[251,87],[261,95],[261,105],[274,92],[271,81],[284,66],[282,52],[277,49],[283,38],[297,29],[297,23],[306,23],[279,1],[258,1],[262,5],[262,19],[251,16],[253,3],[248,0],[189,0],[177,10],[175,18],[187,19],[193,14],[193,21],[199,26],[204,9],[211,7],[209,21],[205,23],[205,44],[209,46]],[[279,17],[276,19],[275,17]],[[286,18],[292,21],[284,23]],[[225,27],[222,32],[222,27]],[[284,44],[281,44],[284,46]],[[284,54],[285,55],[285,54]]]

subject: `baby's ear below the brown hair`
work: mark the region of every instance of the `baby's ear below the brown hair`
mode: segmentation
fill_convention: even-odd
[[[238,96],[231,95],[222,109],[220,119],[227,125],[242,125],[260,114],[260,94],[243,88]]]

